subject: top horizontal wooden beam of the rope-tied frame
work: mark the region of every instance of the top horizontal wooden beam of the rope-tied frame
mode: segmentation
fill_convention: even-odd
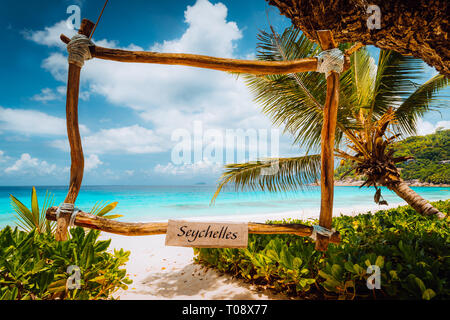
[[[60,38],[64,43],[68,43],[70,41],[70,39],[65,35],[61,35]],[[98,59],[119,62],[182,65],[227,72],[250,73],[255,75],[289,74],[317,70],[317,58],[305,58],[292,61],[239,60],[187,53],[129,51],[103,48],[99,46],[91,47],[91,55],[92,57]]]

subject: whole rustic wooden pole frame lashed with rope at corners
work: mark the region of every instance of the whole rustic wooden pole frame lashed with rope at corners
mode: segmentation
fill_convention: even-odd
[[[94,23],[83,19],[79,34],[89,37]],[[319,43],[323,50],[337,47],[333,36],[329,30],[317,32]],[[70,39],[61,35],[64,43],[69,43]],[[344,70],[350,65],[349,55],[359,47],[346,51]],[[207,68],[227,72],[250,73],[255,75],[267,74],[289,74],[297,72],[311,72],[317,70],[317,58],[306,58],[295,61],[253,61],[237,60],[209,57],[194,54],[182,53],[157,53],[145,51],[128,51],[119,49],[109,49],[98,46],[89,48],[93,58],[113,60],[119,62],[156,63],[167,65],[184,65],[198,68]],[[83,148],[78,127],[78,95],[80,84],[81,67],[69,63],[67,81],[67,101],[66,119],[67,133],[70,143],[71,170],[70,186],[65,202],[74,204],[80,191],[84,171]],[[334,136],[336,130],[337,109],[339,104],[339,74],[331,72],[327,76],[327,95],[324,106],[324,122],[322,127],[322,156],[321,156],[321,207],[319,225],[330,229],[333,210],[333,189],[334,189]],[[56,239],[67,239],[67,228],[70,220],[70,212],[62,212],[59,218],[56,217],[56,207],[49,208],[46,217],[49,220],[57,221]],[[167,230],[167,223],[126,223],[111,221],[101,217],[93,216],[85,212],[79,212],[75,225],[86,228],[102,230],[106,232],[122,235],[150,235],[163,234]],[[313,232],[311,226],[301,224],[258,224],[249,223],[249,233],[273,234],[289,233],[300,236],[310,236]],[[316,250],[325,251],[328,243],[339,243],[338,232],[333,232],[331,237],[317,234]]]

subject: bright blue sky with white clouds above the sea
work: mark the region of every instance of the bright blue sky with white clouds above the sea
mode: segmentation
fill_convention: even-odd
[[[65,185],[67,60],[58,37],[74,32],[65,22],[69,5],[78,5],[81,16],[95,22],[103,0],[0,4],[2,47],[9,49],[0,51],[0,185]],[[258,30],[268,29],[267,16],[279,32],[290,25],[263,0],[110,0],[93,40],[132,50],[252,58]],[[426,68],[424,75],[433,73]],[[444,113],[430,114],[421,133],[448,126],[449,120]],[[198,154],[192,154],[191,163],[174,161],[180,146],[174,135],[191,134],[190,148],[195,148],[194,133],[200,129],[224,136],[226,130],[249,128],[273,133],[269,119],[233,76],[100,60],[83,67],[79,121],[84,184],[212,184],[220,164]],[[289,137],[281,137],[280,154],[300,152],[290,144]],[[242,159],[236,155],[235,160]]]

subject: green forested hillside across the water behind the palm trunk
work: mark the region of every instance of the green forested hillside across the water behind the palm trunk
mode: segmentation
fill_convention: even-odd
[[[414,157],[398,164],[401,178],[410,186],[450,187],[450,130],[409,137],[393,144],[392,148],[396,150],[396,157]],[[336,186],[360,186],[363,183],[354,172],[339,180],[350,168],[350,163],[344,161],[335,170]]]

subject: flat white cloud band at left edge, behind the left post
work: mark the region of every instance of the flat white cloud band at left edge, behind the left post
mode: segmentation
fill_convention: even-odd
[[[0,130],[18,132],[25,135],[65,135],[66,120],[41,111],[9,109],[0,107]],[[86,126],[80,125],[82,133],[88,133]]]

